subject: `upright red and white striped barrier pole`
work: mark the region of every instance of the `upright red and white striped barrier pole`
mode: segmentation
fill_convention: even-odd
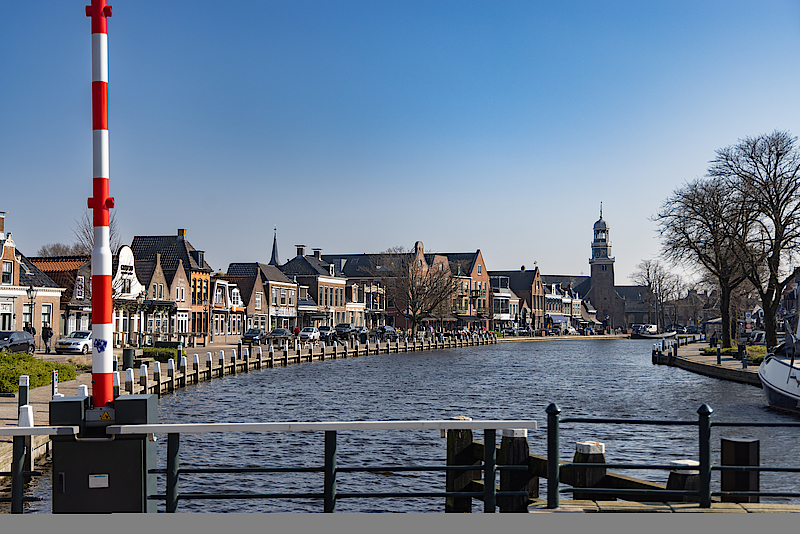
[[[111,6],[106,0],[92,0],[86,6],[92,18],[92,193],[89,209],[94,225],[92,248],[92,403],[105,406],[114,400],[111,295],[111,245],[108,210],[114,199],[108,196],[108,33],[106,18]]]

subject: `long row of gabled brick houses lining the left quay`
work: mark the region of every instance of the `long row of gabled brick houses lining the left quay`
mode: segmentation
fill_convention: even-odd
[[[0,327],[40,331],[50,323],[56,335],[91,325],[91,258],[25,257],[4,232]],[[599,329],[597,311],[564,277],[541,275],[537,266],[490,271],[480,249],[469,253],[426,253],[417,242],[407,253],[425,269],[448,273],[455,290],[444,312],[427,317],[426,328]],[[270,261],[211,268],[205,252],[185,229],[171,236],[136,236],[113,259],[114,343],[138,346],[156,340],[207,343],[233,340],[248,328],[270,330],[352,323],[373,328],[411,323],[390,302],[385,254],[306,253],[298,245],[285,263],[278,259],[277,235]],[[550,280],[552,278],[552,280]],[[29,296],[31,290],[35,293]]]

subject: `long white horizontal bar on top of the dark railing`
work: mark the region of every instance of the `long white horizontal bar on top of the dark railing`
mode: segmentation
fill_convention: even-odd
[[[207,432],[321,432],[347,430],[481,430],[526,428],[536,430],[536,421],[521,420],[429,420],[429,421],[320,421],[275,423],[187,423],[110,425],[107,434],[202,434]]]

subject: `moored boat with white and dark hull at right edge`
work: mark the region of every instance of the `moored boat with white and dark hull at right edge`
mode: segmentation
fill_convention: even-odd
[[[797,339],[798,333],[787,333],[784,342],[761,362],[758,378],[771,408],[800,414],[800,359],[797,358],[800,345]]]

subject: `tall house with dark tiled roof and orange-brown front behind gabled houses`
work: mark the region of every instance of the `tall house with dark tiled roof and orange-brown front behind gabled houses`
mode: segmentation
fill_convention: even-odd
[[[162,283],[166,283],[166,273],[174,273],[179,266],[183,268],[188,284],[186,291],[191,290],[191,304],[187,298],[183,306],[189,319],[189,337],[191,340],[200,337],[204,343],[207,342],[212,269],[205,261],[204,251],[189,243],[185,229],[179,229],[176,236],[135,236],[131,249],[137,266],[139,262],[155,262],[156,255],[160,254],[161,268],[165,273]],[[152,284],[148,287],[152,288]],[[153,299],[152,295],[149,297]]]

